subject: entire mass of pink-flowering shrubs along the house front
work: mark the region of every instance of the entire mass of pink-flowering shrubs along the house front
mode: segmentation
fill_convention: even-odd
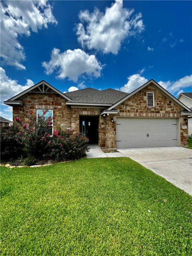
[[[47,130],[52,127],[53,119],[51,116],[45,118],[46,112],[43,110],[37,119],[31,111],[28,115],[24,114],[28,119],[27,124],[16,117],[12,127],[1,132],[1,156],[65,160],[80,158],[89,151],[88,138],[81,133],[74,133],[74,130],[56,130],[51,137]]]

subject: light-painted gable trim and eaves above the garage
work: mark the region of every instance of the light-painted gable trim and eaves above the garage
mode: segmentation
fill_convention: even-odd
[[[139,92],[140,90],[142,90],[143,88],[145,88],[146,86],[148,86],[149,84],[153,85],[154,87],[158,88],[161,93],[163,93],[165,96],[167,96],[170,100],[172,100],[176,105],[178,105],[179,107],[181,107],[181,109],[183,110],[187,110],[190,111],[191,110],[186,107],[182,102],[180,102],[178,99],[176,99],[172,94],[170,94],[167,90],[165,90],[160,84],[158,84],[155,80],[151,79],[149,80],[147,83],[143,84],[142,86],[140,86],[139,88],[137,88],[135,91],[131,92],[129,95],[127,95],[126,97],[124,97],[123,99],[119,100],[118,102],[116,102],[115,104],[113,104],[112,106],[110,106],[108,108],[108,110],[111,110],[113,108],[115,108],[117,105],[121,104],[123,101],[127,100],[128,98],[130,98],[131,96],[133,96],[134,94],[136,94],[137,92]]]

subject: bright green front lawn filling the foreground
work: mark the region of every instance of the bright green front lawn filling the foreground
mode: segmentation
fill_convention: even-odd
[[[191,212],[129,158],[1,168],[1,256],[192,255]]]

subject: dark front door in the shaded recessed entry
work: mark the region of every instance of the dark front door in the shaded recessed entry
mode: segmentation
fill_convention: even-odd
[[[80,132],[89,138],[89,142],[98,143],[98,122],[98,116],[80,116]]]

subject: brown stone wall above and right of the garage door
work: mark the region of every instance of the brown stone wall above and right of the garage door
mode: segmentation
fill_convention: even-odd
[[[154,107],[147,106],[147,92],[154,92]],[[119,117],[181,117],[181,108],[153,85],[146,86],[118,105],[116,109]],[[181,146],[188,145],[188,129],[182,128],[183,125],[186,125],[184,118],[187,117],[181,117]]]

